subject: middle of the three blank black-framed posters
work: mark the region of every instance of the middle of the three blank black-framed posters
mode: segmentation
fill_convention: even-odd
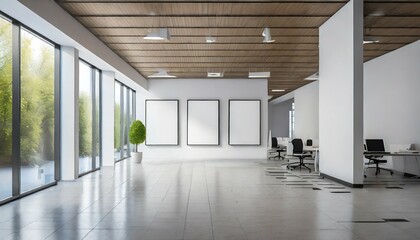
[[[187,101],[187,145],[219,145],[219,100]]]

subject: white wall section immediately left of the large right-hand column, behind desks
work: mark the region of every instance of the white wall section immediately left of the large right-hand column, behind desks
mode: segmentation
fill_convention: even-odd
[[[319,83],[295,90],[295,138],[319,138]]]

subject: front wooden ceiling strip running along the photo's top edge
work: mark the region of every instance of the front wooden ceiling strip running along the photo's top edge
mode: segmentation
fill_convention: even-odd
[[[202,16],[241,16],[241,15],[329,15],[343,6],[342,2],[233,2],[213,3],[159,3],[159,2],[106,2],[106,3],[66,3],[60,5],[74,15],[202,15]]]

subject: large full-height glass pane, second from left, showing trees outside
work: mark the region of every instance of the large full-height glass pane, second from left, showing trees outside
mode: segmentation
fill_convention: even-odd
[[[21,29],[21,192],[54,182],[55,47]]]

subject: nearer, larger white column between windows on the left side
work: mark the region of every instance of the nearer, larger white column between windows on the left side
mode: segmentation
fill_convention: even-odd
[[[61,180],[74,180],[79,169],[79,51],[61,47]]]

